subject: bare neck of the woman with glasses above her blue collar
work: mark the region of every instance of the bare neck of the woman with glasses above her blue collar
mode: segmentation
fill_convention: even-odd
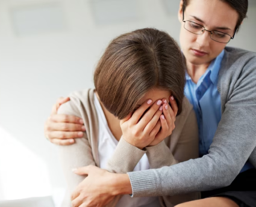
[[[198,83],[200,77],[207,71],[210,62],[207,64],[195,65],[190,62],[186,62],[187,65],[187,74],[191,77],[194,83]]]

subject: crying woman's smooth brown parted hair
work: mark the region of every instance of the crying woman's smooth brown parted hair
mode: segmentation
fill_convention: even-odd
[[[152,88],[170,91],[181,113],[185,64],[180,47],[166,32],[137,29],[114,38],[94,73],[95,89],[105,108],[125,118]]]

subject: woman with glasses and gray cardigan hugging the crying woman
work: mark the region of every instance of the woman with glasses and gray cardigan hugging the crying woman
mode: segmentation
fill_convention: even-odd
[[[178,206],[256,206],[256,55],[226,46],[247,10],[248,0],[180,2],[185,94],[196,112],[200,157],[126,174],[92,166],[78,169],[77,173],[88,177],[73,192],[72,200],[83,202],[81,206],[104,206],[118,194],[173,196],[201,191],[201,200]],[[55,125],[54,130],[46,130],[48,138],[66,144],[70,139],[52,136],[60,129],[56,125],[60,117],[52,115],[52,120],[46,122],[46,127]],[[76,134],[65,138],[77,137],[80,130],[70,131]]]

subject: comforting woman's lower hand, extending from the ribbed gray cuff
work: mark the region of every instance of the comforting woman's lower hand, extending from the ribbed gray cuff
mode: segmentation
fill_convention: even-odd
[[[105,206],[114,196],[131,194],[131,184],[128,175],[110,173],[107,170],[95,166],[80,167],[73,169],[77,175],[87,175],[71,195],[72,207]],[[125,175],[125,176],[124,176]],[[125,184],[123,188],[119,183]]]

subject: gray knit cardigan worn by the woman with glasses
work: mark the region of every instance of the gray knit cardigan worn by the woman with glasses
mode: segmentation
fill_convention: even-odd
[[[256,167],[256,53],[225,47],[217,88],[222,118],[208,154],[128,173],[134,197],[213,190],[231,184],[248,159]]]

